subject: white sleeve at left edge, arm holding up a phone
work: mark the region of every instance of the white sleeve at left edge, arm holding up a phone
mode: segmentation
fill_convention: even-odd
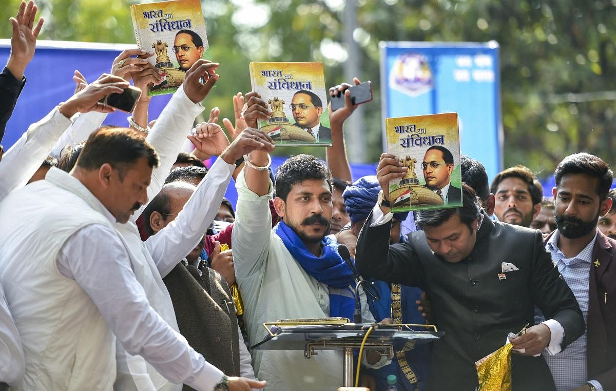
[[[0,200],[10,191],[28,183],[28,179],[41,166],[55,140],[70,126],[58,107],[45,118],[31,124],[17,142],[9,148],[0,161]]]

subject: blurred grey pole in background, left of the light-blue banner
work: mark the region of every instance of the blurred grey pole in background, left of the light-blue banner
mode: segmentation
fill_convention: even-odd
[[[346,44],[349,57],[344,62],[344,81],[353,84],[353,78],[360,74],[360,52],[357,42],[353,38],[353,31],[357,27],[357,0],[346,0],[344,14],[344,35],[342,41]],[[365,81],[365,80],[362,80]],[[363,107],[357,110],[344,121],[344,139],[347,140],[349,161],[351,163],[365,163],[366,161],[366,137],[363,126]]]

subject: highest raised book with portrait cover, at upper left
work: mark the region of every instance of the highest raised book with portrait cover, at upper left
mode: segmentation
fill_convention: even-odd
[[[148,61],[165,73],[163,83],[148,86],[148,96],[172,94],[186,71],[209,55],[200,0],[171,0],[131,6],[139,49],[154,52]]]

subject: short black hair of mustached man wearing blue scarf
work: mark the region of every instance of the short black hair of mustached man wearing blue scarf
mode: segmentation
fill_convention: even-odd
[[[286,202],[291,187],[307,179],[325,180],[331,191],[331,172],[324,161],[304,153],[291,156],[276,170],[276,196]]]

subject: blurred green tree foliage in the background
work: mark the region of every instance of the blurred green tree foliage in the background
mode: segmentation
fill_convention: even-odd
[[[0,20],[17,10],[8,0]],[[127,0],[47,0],[43,39],[134,42]],[[366,106],[366,161],[381,153],[379,41],[495,40],[501,46],[505,166],[553,172],[588,151],[616,163],[616,0],[359,0],[360,79],[375,82]],[[323,61],[326,82],[344,81],[344,0],[202,0],[221,79],[206,100],[233,116],[231,95],[248,92],[250,61]],[[3,38],[10,24],[3,23]],[[347,80],[347,82],[350,82]],[[281,148],[278,153],[323,148]]]

